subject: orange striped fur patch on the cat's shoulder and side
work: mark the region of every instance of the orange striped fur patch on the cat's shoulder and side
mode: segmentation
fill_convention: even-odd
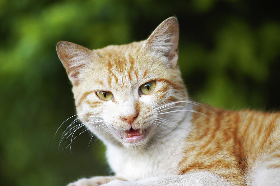
[[[206,170],[238,185],[250,179],[256,163],[280,167],[280,113],[229,111],[196,106],[193,130],[186,138],[180,174]],[[279,175],[280,176],[280,175]]]

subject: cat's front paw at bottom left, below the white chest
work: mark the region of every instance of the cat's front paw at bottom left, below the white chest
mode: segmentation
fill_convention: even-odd
[[[114,179],[117,179],[114,176],[95,176],[92,178],[82,178],[78,181],[68,184],[67,186],[96,186],[106,184]]]

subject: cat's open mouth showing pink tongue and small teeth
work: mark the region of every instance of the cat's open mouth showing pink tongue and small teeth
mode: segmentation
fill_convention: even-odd
[[[146,129],[133,129],[130,128],[128,131],[118,132],[119,136],[124,142],[136,142],[146,137]]]

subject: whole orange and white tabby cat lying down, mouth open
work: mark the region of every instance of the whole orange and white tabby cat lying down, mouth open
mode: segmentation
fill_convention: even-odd
[[[96,50],[58,42],[77,126],[104,142],[115,173],[68,186],[280,185],[280,113],[191,101],[178,41],[170,17],[140,42]]]

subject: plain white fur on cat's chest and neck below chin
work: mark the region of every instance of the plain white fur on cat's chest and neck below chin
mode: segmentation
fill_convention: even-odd
[[[181,124],[183,127],[173,130],[145,150],[107,145],[106,155],[112,170],[127,180],[178,174],[184,140],[190,129],[189,122]]]

